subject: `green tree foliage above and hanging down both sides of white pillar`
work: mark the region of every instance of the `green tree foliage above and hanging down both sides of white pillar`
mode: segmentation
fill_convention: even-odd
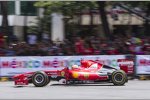
[[[74,15],[85,10],[97,8],[97,3],[95,1],[37,1],[34,6],[44,8],[44,17],[38,18],[38,23],[35,23],[36,26],[30,27],[28,31],[34,33],[46,31],[50,33],[50,15],[52,13],[62,13],[65,18],[69,18],[64,19],[64,22],[67,25],[66,31],[70,32],[70,29],[73,30],[73,27],[76,27],[74,23],[70,23]]]

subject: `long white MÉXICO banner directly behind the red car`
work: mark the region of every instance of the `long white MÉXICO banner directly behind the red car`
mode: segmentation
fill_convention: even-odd
[[[124,55],[100,56],[28,56],[28,57],[1,57],[0,76],[13,76],[20,73],[38,70],[60,70],[80,65],[80,60],[95,60],[100,63],[119,68],[118,59],[125,59]]]

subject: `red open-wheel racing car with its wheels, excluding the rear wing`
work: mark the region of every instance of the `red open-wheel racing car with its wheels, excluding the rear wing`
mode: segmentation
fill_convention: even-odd
[[[112,82],[114,85],[124,85],[128,79],[123,70],[97,63],[92,60],[81,60],[81,66],[73,65],[56,71],[37,71],[14,76],[15,85],[33,83],[36,87],[46,86],[50,80],[65,79],[66,84],[77,82]]]

